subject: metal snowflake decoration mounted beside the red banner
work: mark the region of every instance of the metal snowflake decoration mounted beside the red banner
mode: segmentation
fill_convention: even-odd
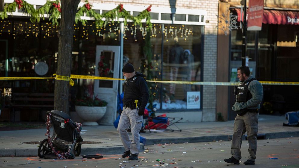
[[[229,15],[229,20],[227,19],[228,15]],[[238,25],[237,25],[238,16],[233,15],[233,13],[231,13],[228,8],[226,12],[222,14],[222,16],[218,16],[218,15],[216,16],[219,18],[218,25],[220,25],[220,27],[219,26],[217,27],[224,32],[225,36],[229,31],[238,29]]]

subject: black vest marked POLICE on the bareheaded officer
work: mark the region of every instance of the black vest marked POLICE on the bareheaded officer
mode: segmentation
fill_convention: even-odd
[[[250,79],[247,82],[240,82],[238,85],[238,89],[237,89],[237,101],[238,102],[246,102],[248,100],[250,100],[252,98],[251,93],[248,91],[248,86],[249,83],[253,80],[257,80],[257,79]]]

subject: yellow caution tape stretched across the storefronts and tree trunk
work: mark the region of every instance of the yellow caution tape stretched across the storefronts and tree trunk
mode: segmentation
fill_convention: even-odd
[[[21,79],[56,79],[70,81],[70,85],[74,86],[74,81],[72,79],[95,79],[95,80],[125,80],[121,78],[110,78],[101,76],[86,76],[86,75],[71,75],[61,76],[53,74],[55,77],[0,77],[0,80],[21,80]],[[196,81],[170,81],[170,80],[146,80],[147,82],[155,83],[173,83],[173,84],[185,84],[185,85],[211,85],[211,86],[234,86],[234,82],[196,82]],[[260,81],[263,85],[290,85],[298,86],[299,82],[273,82],[273,81]],[[238,83],[236,82],[236,85]]]

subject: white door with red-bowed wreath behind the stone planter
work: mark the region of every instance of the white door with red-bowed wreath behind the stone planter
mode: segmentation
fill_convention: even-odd
[[[119,58],[120,46],[97,45],[95,75],[118,78]],[[94,82],[94,95],[108,102],[107,111],[99,124],[112,125],[116,118],[118,83],[117,80],[95,80]]]

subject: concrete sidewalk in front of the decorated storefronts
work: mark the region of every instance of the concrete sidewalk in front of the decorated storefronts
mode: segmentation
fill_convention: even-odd
[[[286,123],[284,116],[260,115],[259,139],[272,139],[299,136],[298,127],[282,126]],[[211,141],[230,141],[234,121],[206,123],[177,123],[179,131],[149,132],[140,135],[146,138],[145,145],[164,143],[195,143]],[[176,127],[172,126],[173,129]],[[114,126],[83,126],[84,141],[101,142],[82,144],[83,154],[121,154],[124,151]],[[39,145],[25,142],[38,142],[47,138],[45,129],[27,129],[17,131],[0,131],[0,156],[37,156]],[[51,129],[51,135],[53,129]],[[245,138],[245,137],[244,137]],[[141,151],[144,146],[141,145]]]

